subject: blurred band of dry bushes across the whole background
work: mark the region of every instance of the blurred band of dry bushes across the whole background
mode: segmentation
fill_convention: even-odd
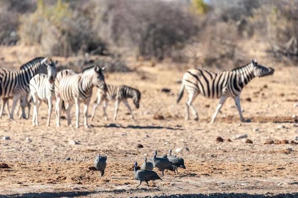
[[[0,0],[0,44],[47,56],[240,66],[265,44],[298,62],[298,0]],[[203,61],[202,61],[202,60]]]

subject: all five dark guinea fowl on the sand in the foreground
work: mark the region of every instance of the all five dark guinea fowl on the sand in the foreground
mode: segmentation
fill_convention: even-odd
[[[141,166],[141,169],[138,170],[138,163],[134,162],[134,178],[140,181],[139,187],[143,181],[145,181],[149,187],[149,181],[162,180],[156,172],[153,171],[153,168],[157,168],[161,171],[161,176],[164,176],[165,170],[170,170],[175,172],[178,175],[178,168],[186,169],[184,165],[184,160],[181,157],[172,155],[172,150],[169,151],[169,156],[167,154],[162,155],[162,157],[157,157],[157,151],[154,152],[152,157],[152,162],[147,160],[147,157],[144,159],[144,163]],[[98,154],[94,160],[95,168],[101,172],[101,176],[104,176],[106,169],[106,156]]]

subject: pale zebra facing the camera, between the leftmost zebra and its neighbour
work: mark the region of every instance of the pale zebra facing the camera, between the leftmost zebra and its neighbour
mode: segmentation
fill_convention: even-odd
[[[33,126],[38,126],[38,109],[41,101],[48,105],[47,126],[50,126],[50,118],[52,113],[52,102],[55,98],[54,82],[56,78],[56,66],[58,61],[50,61],[50,67],[47,68],[47,75],[36,74],[29,82],[30,93],[33,99]]]

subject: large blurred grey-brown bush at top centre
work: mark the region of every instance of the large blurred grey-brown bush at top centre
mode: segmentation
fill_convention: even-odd
[[[182,48],[197,32],[194,18],[174,2],[102,0],[94,10],[100,10],[100,20],[94,22],[104,29],[107,40],[136,47],[142,59],[170,57],[174,48]]]

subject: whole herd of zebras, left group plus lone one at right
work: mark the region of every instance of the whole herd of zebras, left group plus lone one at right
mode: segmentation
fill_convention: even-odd
[[[4,107],[9,112],[9,118],[13,119],[14,110],[20,100],[22,110],[21,117],[26,118],[25,106],[30,111],[28,96],[32,97],[34,126],[38,123],[38,110],[42,101],[48,105],[47,125],[50,125],[52,103],[56,99],[55,112],[56,124],[60,127],[61,110],[64,103],[67,125],[71,126],[70,110],[73,105],[76,107],[76,124],[79,127],[80,103],[84,103],[84,126],[88,127],[87,115],[92,89],[98,87],[97,99],[94,103],[91,119],[93,120],[95,110],[101,102],[104,102],[104,117],[107,119],[106,106],[109,100],[115,100],[114,120],[117,118],[119,103],[123,101],[128,108],[131,118],[134,119],[127,99],[132,98],[136,108],[140,106],[141,92],[127,86],[106,85],[103,71],[105,67],[90,66],[81,73],[76,73],[70,69],[64,69],[56,74],[58,61],[53,61],[48,57],[35,58],[20,67],[19,71],[0,69],[0,98],[3,104],[0,109],[0,118]],[[199,93],[207,98],[220,98],[219,104],[212,116],[211,122],[215,118],[228,97],[233,97],[241,121],[245,121],[240,106],[240,93],[245,85],[255,77],[272,75],[274,69],[258,65],[252,60],[249,64],[235,68],[231,71],[210,72],[203,69],[192,68],[183,75],[182,86],[178,94],[177,103],[183,96],[184,89],[188,92],[186,102],[185,119],[189,119],[189,109],[191,108],[194,119],[198,120],[198,114],[192,102]],[[29,97],[30,98],[30,97]],[[13,99],[12,108],[9,110],[8,99]],[[28,112],[29,116],[29,112]]]

